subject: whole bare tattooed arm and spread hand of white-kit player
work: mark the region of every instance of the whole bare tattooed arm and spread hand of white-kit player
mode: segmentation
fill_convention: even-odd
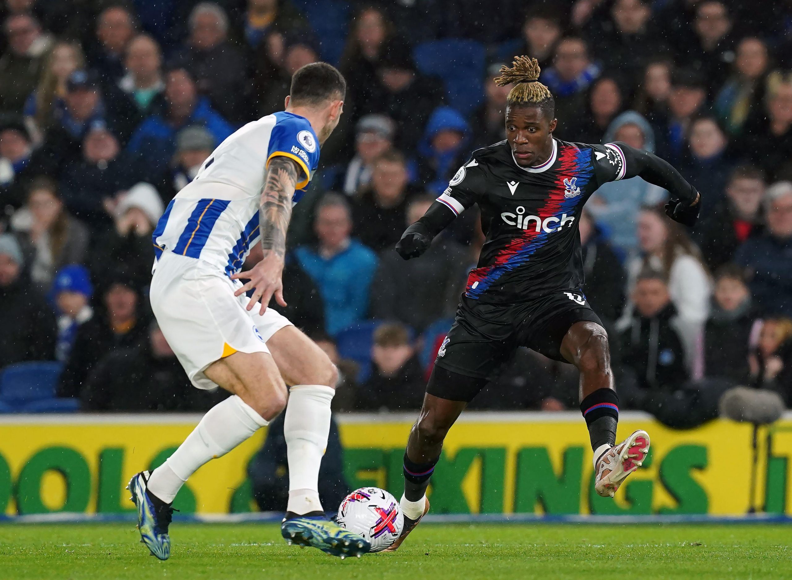
[[[248,310],[253,309],[256,302],[261,300],[260,313],[264,314],[273,294],[278,304],[286,305],[281,275],[286,256],[286,230],[291,219],[291,199],[295,195],[300,171],[297,163],[289,157],[272,157],[269,161],[267,180],[264,190],[261,191],[261,205],[258,210],[264,258],[249,271],[231,276],[233,279],[248,279],[245,286],[234,293],[236,296],[255,289],[247,305]]]

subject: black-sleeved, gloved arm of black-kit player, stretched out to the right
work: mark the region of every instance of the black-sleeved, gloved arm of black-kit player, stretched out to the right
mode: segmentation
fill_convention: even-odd
[[[626,157],[626,172],[637,175],[646,182],[668,190],[671,194],[665,204],[669,218],[685,226],[695,226],[701,209],[701,194],[678,172],[673,165],[648,151],[635,149],[623,142],[616,145]],[[631,175],[631,176],[632,176]]]

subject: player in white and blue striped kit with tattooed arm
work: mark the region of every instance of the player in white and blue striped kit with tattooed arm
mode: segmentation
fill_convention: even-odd
[[[232,393],[165,463],[129,482],[141,540],[159,559],[170,557],[173,498],[188,477],[284,408],[284,539],[341,558],[370,548],[330,521],[318,496],[337,370],[286,317],[267,308],[272,296],[285,305],[281,275],[291,207],[316,171],[319,146],[337,126],[345,93],[343,76],[327,63],[297,70],[286,110],[246,124],[220,143],[152,234],[150,301],[159,328],[193,385]],[[241,272],[256,243],[264,258]],[[251,298],[246,290],[253,290]]]

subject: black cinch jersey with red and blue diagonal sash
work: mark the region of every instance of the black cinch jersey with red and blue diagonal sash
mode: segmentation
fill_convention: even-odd
[[[437,199],[455,214],[478,203],[486,241],[465,295],[512,304],[581,290],[578,222],[600,185],[632,177],[630,147],[553,140],[543,165],[517,165],[508,142],[474,152]],[[633,164],[634,165],[634,164]]]

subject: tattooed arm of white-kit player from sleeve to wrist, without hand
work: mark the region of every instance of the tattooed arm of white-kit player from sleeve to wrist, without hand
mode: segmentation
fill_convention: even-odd
[[[288,157],[274,157],[269,162],[267,180],[261,192],[259,227],[264,255],[286,255],[286,229],[291,219],[291,198],[297,184],[298,166]]]

